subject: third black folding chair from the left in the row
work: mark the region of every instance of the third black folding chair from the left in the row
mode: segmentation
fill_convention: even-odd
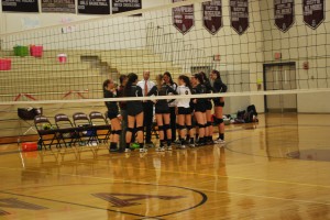
[[[95,140],[94,129],[87,114],[84,112],[76,112],[74,113],[73,119],[81,144],[84,145],[84,143],[86,143],[87,145],[92,145],[94,141],[96,142],[97,140]]]

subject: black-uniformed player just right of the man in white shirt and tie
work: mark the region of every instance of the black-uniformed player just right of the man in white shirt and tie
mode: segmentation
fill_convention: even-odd
[[[168,96],[177,95],[177,92],[163,81],[163,75],[156,77],[156,86],[154,86],[147,96]],[[165,133],[167,136],[167,150],[172,151],[172,130],[170,130],[170,118],[169,118],[169,107],[168,103],[174,102],[175,100],[157,100],[155,103],[155,114],[156,122],[160,132],[160,147],[156,151],[165,151]]]

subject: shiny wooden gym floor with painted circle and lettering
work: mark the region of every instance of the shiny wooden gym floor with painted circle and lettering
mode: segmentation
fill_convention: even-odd
[[[330,219],[330,114],[265,114],[224,147],[0,146],[0,219]]]

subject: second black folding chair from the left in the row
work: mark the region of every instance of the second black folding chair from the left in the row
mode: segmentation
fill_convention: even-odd
[[[79,141],[77,130],[66,114],[58,113],[54,117],[54,120],[58,129],[56,138],[59,146],[62,143],[65,145],[65,147],[72,146],[76,143],[76,141]]]

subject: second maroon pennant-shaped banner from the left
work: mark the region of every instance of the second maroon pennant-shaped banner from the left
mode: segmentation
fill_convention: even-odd
[[[222,28],[222,0],[202,3],[202,25],[216,34]]]

